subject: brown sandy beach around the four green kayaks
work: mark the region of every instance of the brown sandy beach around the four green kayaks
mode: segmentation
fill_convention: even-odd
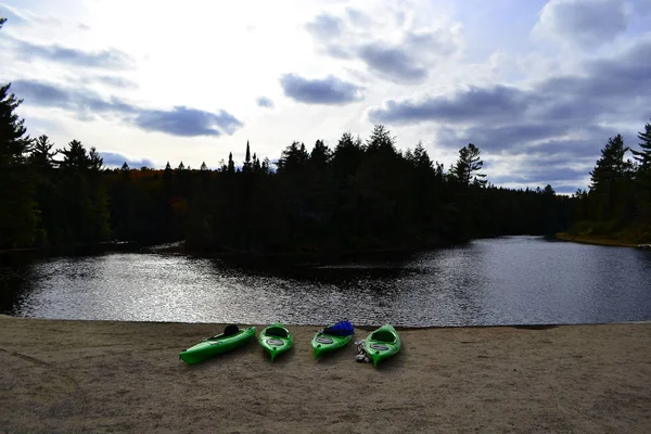
[[[0,316],[0,433],[651,432],[651,323],[400,330],[378,368],[289,328],[189,366],[220,326]]]

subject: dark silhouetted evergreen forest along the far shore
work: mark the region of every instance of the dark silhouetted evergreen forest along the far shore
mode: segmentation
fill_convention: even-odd
[[[492,184],[473,143],[446,169],[421,143],[399,150],[383,125],[333,149],[295,141],[275,163],[246,143],[244,162],[231,153],[216,170],[111,169],[78,140],[30,138],[21,103],[0,87],[0,250],[184,240],[204,252],[336,253],[559,231],[651,241],[651,124],[633,161],[622,136],[608,139],[589,189],[566,196]]]

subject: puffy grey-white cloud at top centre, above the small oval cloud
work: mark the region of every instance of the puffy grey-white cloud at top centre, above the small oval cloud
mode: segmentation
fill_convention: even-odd
[[[320,52],[362,62],[368,71],[393,82],[423,82],[437,63],[460,48],[457,25],[433,26],[431,20],[418,25],[406,21],[401,10],[367,14],[348,8],[344,12],[343,16],[321,13],[305,25]]]

